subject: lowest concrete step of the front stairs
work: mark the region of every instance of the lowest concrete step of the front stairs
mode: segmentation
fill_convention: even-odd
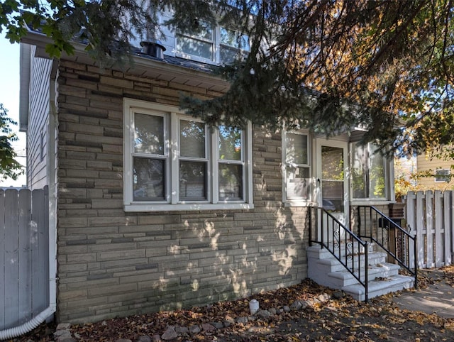
[[[414,287],[414,278],[406,275],[392,275],[391,277],[377,278],[368,282],[369,299],[382,296],[390,292],[397,292],[402,289]],[[348,285],[342,287],[343,291],[350,294],[353,298],[364,301],[365,288],[360,285]]]

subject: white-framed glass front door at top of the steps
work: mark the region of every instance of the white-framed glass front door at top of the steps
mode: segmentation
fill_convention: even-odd
[[[348,143],[316,140],[317,201],[348,227]]]

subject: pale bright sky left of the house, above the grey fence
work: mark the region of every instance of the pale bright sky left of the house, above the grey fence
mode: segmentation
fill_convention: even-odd
[[[8,109],[8,116],[14,121],[19,121],[19,45],[9,43],[0,34],[0,103]],[[11,126],[18,135],[19,140],[13,143],[18,158],[25,166],[26,163],[26,134],[19,133],[18,126]],[[23,157],[21,157],[23,156]],[[26,177],[21,176],[17,181],[1,180],[0,187],[21,187],[26,184]]]

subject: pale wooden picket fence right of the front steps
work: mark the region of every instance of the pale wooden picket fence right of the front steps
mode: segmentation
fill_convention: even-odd
[[[452,191],[409,192],[406,195],[406,225],[417,237],[420,268],[451,265],[454,261],[453,199]]]

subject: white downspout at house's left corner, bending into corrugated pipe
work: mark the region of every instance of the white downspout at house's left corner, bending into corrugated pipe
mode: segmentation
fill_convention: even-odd
[[[52,314],[57,311],[57,199],[55,192],[55,128],[57,127],[57,110],[56,110],[56,83],[55,83],[55,70],[57,69],[58,62],[52,63],[52,72],[50,75],[50,110],[49,110],[49,126],[48,126],[48,191],[49,191],[49,307],[41,311],[38,315],[33,317],[20,326],[14,326],[10,329],[0,330],[0,341],[24,335],[33,331]]]

